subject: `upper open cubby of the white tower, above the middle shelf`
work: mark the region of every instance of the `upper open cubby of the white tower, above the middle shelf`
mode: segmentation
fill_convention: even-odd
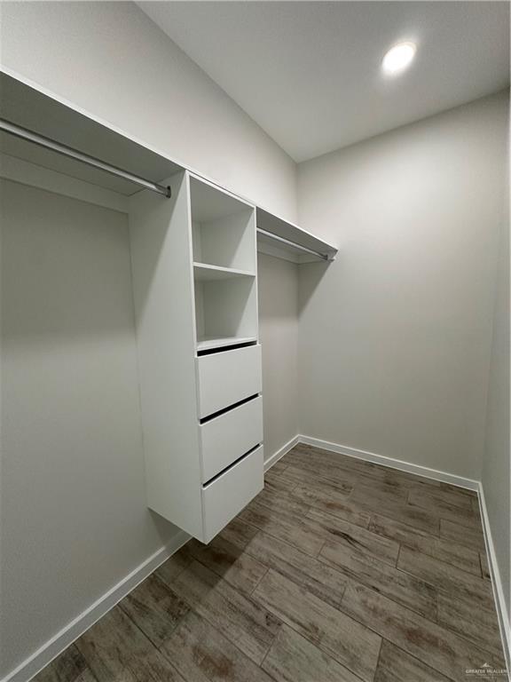
[[[254,209],[197,178],[190,197],[194,263],[255,274]]]

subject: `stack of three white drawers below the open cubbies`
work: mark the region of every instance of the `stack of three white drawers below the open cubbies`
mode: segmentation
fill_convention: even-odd
[[[205,541],[263,489],[261,346],[198,357]]]

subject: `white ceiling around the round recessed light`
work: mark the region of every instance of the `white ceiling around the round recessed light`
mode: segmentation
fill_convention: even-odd
[[[509,83],[507,2],[141,2],[297,162]],[[401,40],[404,74],[381,73]]]

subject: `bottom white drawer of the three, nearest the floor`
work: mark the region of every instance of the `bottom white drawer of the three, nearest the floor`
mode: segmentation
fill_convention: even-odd
[[[263,446],[202,488],[203,542],[210,542],[264,487]]]

